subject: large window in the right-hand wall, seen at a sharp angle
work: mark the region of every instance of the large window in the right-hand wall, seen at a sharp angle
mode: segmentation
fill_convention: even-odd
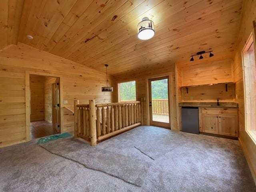
[[[256,140],[256,63],[252,35],[244,47],[243,60],[246,130]]]

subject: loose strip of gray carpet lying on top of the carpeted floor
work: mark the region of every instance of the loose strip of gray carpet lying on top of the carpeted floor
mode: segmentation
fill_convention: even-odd
[[[40,146],[86,168],[104,172],[139,187],[142,186],[150,167],[149,162],[85,145],[78,139],[55,140]]]

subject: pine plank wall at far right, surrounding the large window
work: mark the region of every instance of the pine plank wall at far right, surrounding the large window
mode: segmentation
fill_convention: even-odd
[[[256,143],[245,130],[244,114],[244,80],[242,71],[242,50],[251,32],[253,31],[252,21],[256,20],[256,1],[246,0],[243,4],[243,14],[238,35],[237,46],[234,56],[234,77],[236,82],[236,102],[239,105],[239,139],[244,150],[247,162],[250,166],[254,182],[256,183]]]

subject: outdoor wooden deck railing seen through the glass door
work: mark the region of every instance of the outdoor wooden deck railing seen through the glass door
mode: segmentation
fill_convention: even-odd
[[[158,115],[169,114],[168,99],[152,99],[152,113]]]

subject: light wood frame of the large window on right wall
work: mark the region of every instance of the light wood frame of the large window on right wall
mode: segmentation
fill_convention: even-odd
[[[254,65],[256,69],[256,38],[255,38],[255,29],[250,34],[248,40],[246,41],[246,44],[242,50],[242,69],[243,69],[243,82],[244,82],[244,121],[245,121],[245,131],[248,133],[248,135],[254,140],[256,143],[256,132],[252,130],[251,125],[251,119],[252,117],[252,110],[251,110],[251,100],[252,96],[250,94],[250,88],[248,88],[248,85],[246,84],[246,80],[250,78],[248,77],[248,72],[250,72],[248,67],[248,50],[251,46],[254,46]],[[251,85],[250,85],[251,86]],[[256,82],[254,82],[254,86],[256,86]],[[248,90],[249,89],[249,90]],[[248,93],[249,92],[249,93]],[[255,107],[256,110],[256,107]],[[255,122],[256,126],[256,122]]]

